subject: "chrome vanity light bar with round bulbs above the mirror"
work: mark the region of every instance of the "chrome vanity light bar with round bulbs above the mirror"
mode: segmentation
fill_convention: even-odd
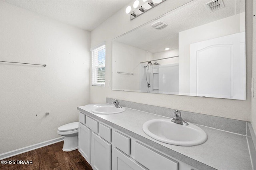
[[[135,0],[132,6],[133,9],[131,6],[128,6],[125,12],[126,14],[130,14],[130,20],[133,20],[164,1],[166,0],[154,0],[154,2],[152,0]]]

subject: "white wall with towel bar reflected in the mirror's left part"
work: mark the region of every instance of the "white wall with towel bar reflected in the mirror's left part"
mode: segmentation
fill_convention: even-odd
[[[117,41],[112,42],[112,49],[114,49],[113,63],[116,65],[112,70],[114,82],[112,88],[140,90],[140,62],[151,60],[152,53]],[[117,72],[134,73],[134,75]]]

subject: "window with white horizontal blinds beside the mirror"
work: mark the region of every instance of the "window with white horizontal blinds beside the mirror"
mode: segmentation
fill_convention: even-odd
[[[93,47],[92,51],[92,86],[105,86],[105,42]]]

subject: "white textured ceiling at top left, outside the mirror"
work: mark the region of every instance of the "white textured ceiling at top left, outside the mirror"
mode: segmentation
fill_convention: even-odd
[[[4,2],[92,31],[131,0],[4,0]]]

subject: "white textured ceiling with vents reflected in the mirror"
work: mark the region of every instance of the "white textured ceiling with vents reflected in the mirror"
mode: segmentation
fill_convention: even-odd
[[[193,0],[157,20],[150,21],[131,32],[116,38],[115,41],[145,51],[150,51],[151,53],[162,52],[166,47],[177,49],[178,33],[180,31],[191,29],[245,11],[244,0],[223,0],[225,7],[214,12],[209,12],[207,10],[204,5],[206,2],[210,2],[210,0]],[[164,21],[168,26],[164,29],[155,29],[151,24],[156,21]]]

